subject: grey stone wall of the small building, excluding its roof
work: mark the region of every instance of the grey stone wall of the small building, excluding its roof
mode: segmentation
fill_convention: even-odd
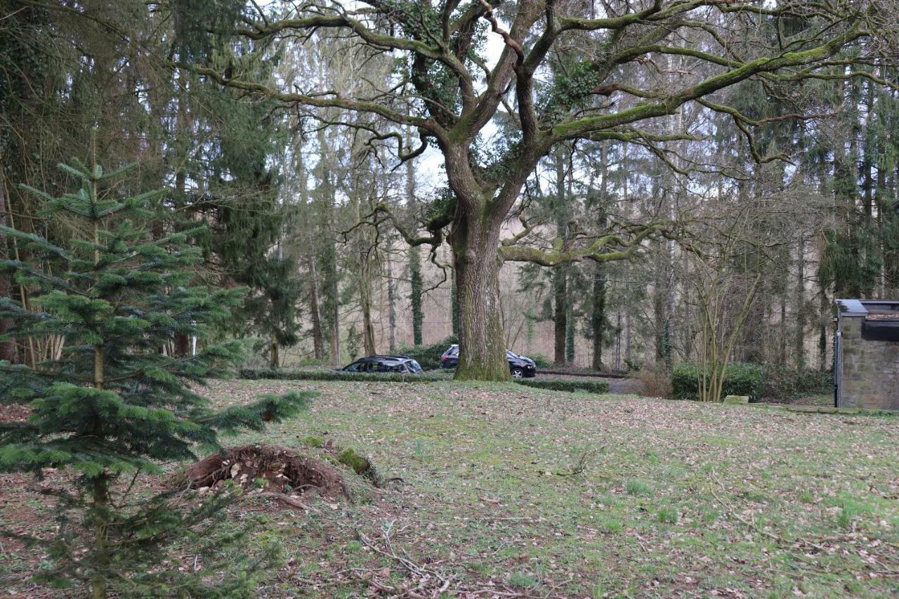
[[[861,338],[864,317],[841,317],[841,407],[899,410],[899,342]]]

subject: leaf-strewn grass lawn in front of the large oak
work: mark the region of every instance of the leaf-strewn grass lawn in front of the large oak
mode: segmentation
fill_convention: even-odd
[[[354,482],[352,504],[236,507],[289,558],[261,596],[899,593],[893,416],[452,382],[219,381],[209,395],[288,389],[320,396],[228,444],[322,437],[403,481]],[[0,514],[39,514],[4,478]],[[27,563],[0,556],[11,589],[28,590]]]

